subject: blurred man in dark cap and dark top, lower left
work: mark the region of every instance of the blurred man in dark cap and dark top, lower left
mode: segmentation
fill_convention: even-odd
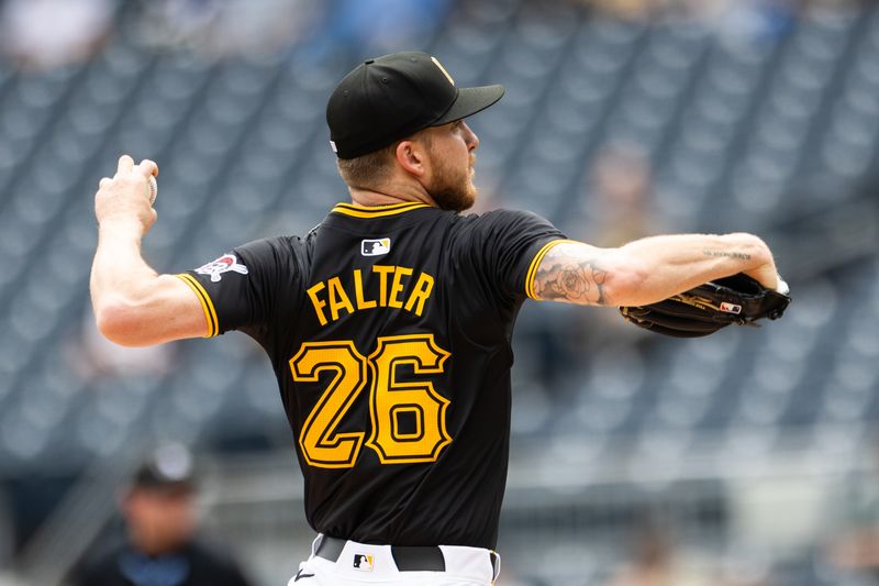
[[[75,571],[75,586],[249,586],[237,564],[194,539],[192,456],[166,445],[122,498],[127,539]]]

